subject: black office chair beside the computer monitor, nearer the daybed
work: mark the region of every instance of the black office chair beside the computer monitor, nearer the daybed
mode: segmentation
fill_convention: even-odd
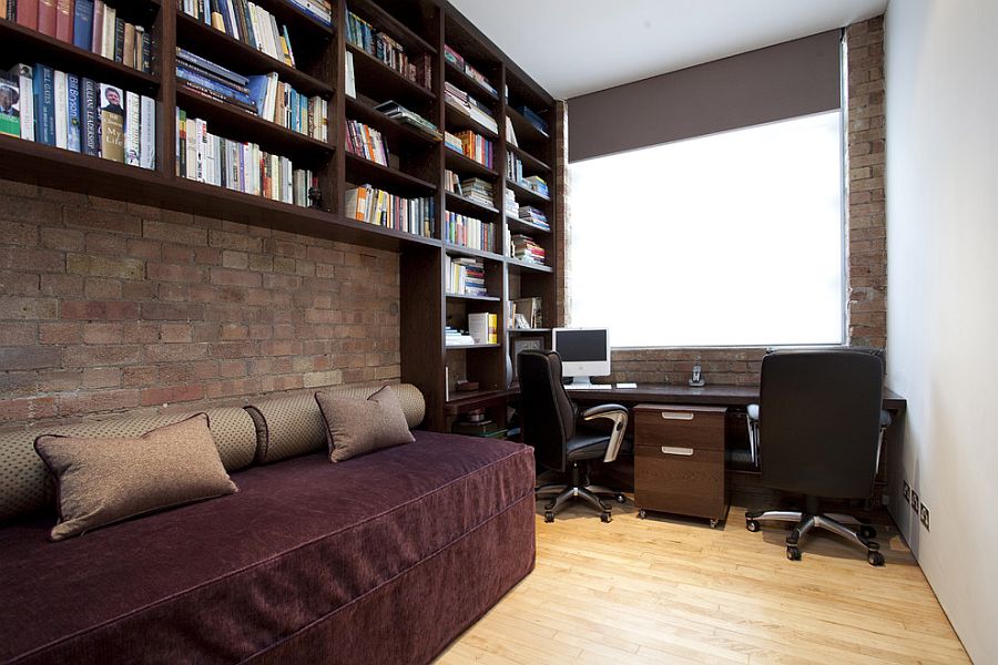
[[[589,463],[602,458],[617,459],[628,429],[628,410],[620,405],[601,405],[581,413],[583,421],[609,419],[610,431],[589,429],[578,423],[579,407],[561,382],[561,357],[556,351],[531,349],[517,356],[520,378],[520,416],[523,442],[532,446],[537,461],[563,473],[571,470],[570,482],[537,488],[538,498],[554,495],[544,505],[544,521],[553,522],[554,513],[569,499],[578,497],[600,511],[600,519],[612,518],[610,505],[600,497],[610,495],[624,502],[624,495],[609,488],[589,484]]]

